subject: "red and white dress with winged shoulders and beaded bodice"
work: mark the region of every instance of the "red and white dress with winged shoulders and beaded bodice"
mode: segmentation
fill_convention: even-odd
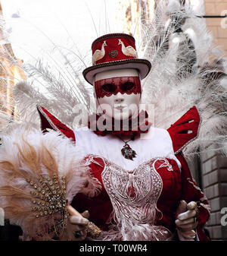
[[[118,137],[100,136],[89,128],[72,131],[46,109],[38,110],[42,130],[61,131],[82,148],[89,179],[71,204],[79,212],[89,210],[89,220],[103,231],[99,239],[177,239],[176,209],[185,200],[201,201],[197,237],[208,240],[203,228],[210,207],[182,154],[183,147],[197,137],[196,107],[168,130],[151,127],[142,138],[130,141],[137,153],[133,161],[121,154],[123,141]]]

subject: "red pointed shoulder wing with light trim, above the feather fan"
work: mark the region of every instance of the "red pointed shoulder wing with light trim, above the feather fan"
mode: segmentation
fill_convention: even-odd
[[[44,107],[37,105],[37,110],[40,116],[41,129],[42,131],[47,131],[47,129],[52,129],[54,131],[60,131],[61,134],[64,134],[66,137],[71,138],[73,141],[76,141],[75,134],[73,130],[60,122],[54,115],[51,115],[48,110]]]

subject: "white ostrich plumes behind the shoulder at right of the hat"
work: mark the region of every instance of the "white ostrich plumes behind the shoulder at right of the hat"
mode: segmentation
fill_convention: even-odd
[[[154,104],[154,126],[160,128],[169,128],[191,106],[197,106],[202,120],[200,133],[185,147],[185,156],[207,147],[226,154],[226,59],[221,54],[213,55],[213,36],[190,6],[182,6],[179,11],[176,1],[173,4],[169,9],[160,3],[154,22],[144,28],[144,58],[151,61],[152,69],[143,81],[143,103]],[[176,20],[166,27],[165,14],[171,12]],[[180,25],[174,26],[176,21]],[[174,32],[179,27],[182,32]],[[193,43],[191,48],[188,39]]]

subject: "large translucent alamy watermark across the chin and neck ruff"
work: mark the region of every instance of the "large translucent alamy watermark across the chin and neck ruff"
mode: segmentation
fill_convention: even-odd
[[[154,126],[154,104],[124,105],[121,111],[117,107],[120,107],[119,104],[101,104],[93,108],[94,114],[90,115],[82,104],[78,104],[73,108],[73,127],[86,127],[89,124],[92,131],[146,131],[149,126]],[[123,119],[115,119],[117,115],[122,115]]]

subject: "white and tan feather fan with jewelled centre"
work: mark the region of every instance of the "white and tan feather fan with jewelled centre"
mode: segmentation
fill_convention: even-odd
[[[86,181],[81,150],[55,131],[20,126],[0,147],[0,206],[30,239],[67,236],[67,204]]]

